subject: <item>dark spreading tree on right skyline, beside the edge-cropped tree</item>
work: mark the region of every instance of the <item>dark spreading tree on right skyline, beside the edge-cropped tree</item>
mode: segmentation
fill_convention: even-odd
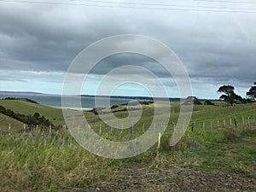
[[[219,99],[223,99],[224,102],[229,103],[233,106],[235,103],[243,103],[244,99],[241,96],[236,95],[235,88],[231,85],[223,85],[218,88],[218,93],[224,93],[224,95],[219,96]]]

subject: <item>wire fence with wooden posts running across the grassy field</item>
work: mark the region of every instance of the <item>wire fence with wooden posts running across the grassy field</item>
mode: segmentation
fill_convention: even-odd
[[[151,126],[151,129],[149,130],[148,127]],[[223,118],[223,119],[202,119],[202,120],[195,120],[191,121],[189,124],[189,127],[187,129],[190,129],[191,131],[206,131],[206,130],[216,130],[216,129],[230,129],[230,128],[236,128],[239,130],[246,130],[247,127],[256,126],[255,122],[255,116],[247,116],[247,117],[229,117],[229,118]],[[130,128],[124,129],[124,125],[120,125],[119,129],[115,129],[113,127],[110,127],[105,124],[98,124],[94,125],[92,128],[96,134],[98,134],[101,137],[106,137],[108,139],[131,139],[135,137],[139,137],[142,135],[145,131],[151,131],[154,136],[158,136],[159,133],[164,133],[167,131],[173,131],[176,127],[176,122],[172,121],[169,122],[168,125],[164,123],[154,123],[149,124],[146,123],[140,123],[139,125],[133,125],[131,124]],[[78,126],[78,131],[81,131],[81,129],[89,129],[88,125],[85,125],[84,128]],[[41,126],[41,125],[26,125],[24,124],[20,128],[13,128],[11,124],[6,125],[4,129],[0,131],[0,134],[2,135],[13,135],[13,134],[20,134],[20,133],[29,133],[32,131],[44,131],[51,133],[52,131],[67,131],[67,125],[61,125],[58,127],[52,127],[49,125],[49,127]]]

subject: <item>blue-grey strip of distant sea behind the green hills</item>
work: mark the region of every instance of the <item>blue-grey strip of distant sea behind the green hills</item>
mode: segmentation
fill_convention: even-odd
[[[73,102],[81,99],[82,109],[90,110],[91,108],[96,108],[95,96],[67,96],[69,101],[69,106],[61,106],[61,95],[48,95],[40,93],[31,93],[31,92],[9,92],[9,91],[0,91],[0,99],[6,97],[15,97],[15,98],[27,98],[31,99],[39,104],[46,105],[53,108],[73,108]],[[132,97],[111,97],[110,105],[119,105],[127,102],[131,102]],[[139,98],[137,100],[150,100],[149,98]],[[97,97],[97,107],[108,107],[109,98],[106,96]]]

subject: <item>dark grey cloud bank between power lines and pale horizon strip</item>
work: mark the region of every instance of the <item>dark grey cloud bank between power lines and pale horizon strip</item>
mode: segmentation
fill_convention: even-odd
[[[74,57],[90,44],[111,35],[134,33],[170,46],[197,82],[246,84],[255,81],[254,23],[255,14],[1,3],[0,66],[7,71],[66,72]],[[134,55],[109,57],[92,73],[102,75],[131,64],[169,77],[156,62]]]

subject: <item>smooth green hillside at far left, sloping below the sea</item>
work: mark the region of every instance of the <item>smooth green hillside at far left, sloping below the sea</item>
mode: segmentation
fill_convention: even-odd
[[[26,115],[40,113],[41,116],[49,119],[54,125],[64,124],[62,110],[58,108],[50,108],[44,105],[22,100],[0,100],[0,105],[2,105],[4,108],[13,110],[15,113]]]

